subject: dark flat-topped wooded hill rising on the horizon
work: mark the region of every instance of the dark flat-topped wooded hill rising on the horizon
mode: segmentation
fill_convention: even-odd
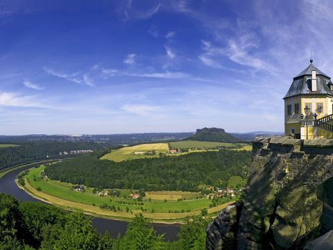
[[[197,129],[194,135],[191,135],[187,140],[198,140],[207,142],[239,142],[239,138],[225,133],[223,128],[202,128]]]

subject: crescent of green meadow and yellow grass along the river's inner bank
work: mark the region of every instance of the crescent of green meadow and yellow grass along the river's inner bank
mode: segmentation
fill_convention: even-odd
[[[199,199],[180,202],[145,201],[137,203],[135,201],[135,203],[133,202],[128,205],[128,199],[114,197],[110,199],[110,197],[100,197],[96,194],[85,194],[83,192],[71,190],[71,185],[69,183],[60,183],[59,181],[42,179],[40,178],[40,172],[42,172],[42,169],[43,167],[31,169],[29,174],[24,177],[25,185],[23,187],[21,186],[21,188],[36,199],[40,199],[46,203],[51,203],[66,210],[82,210],[84,213],[95,217],[129,221],[130,219],[133,219],[136,214],[142,213],[144,217],[151,219],[152,222],[162,224],[179,224],[184,222],[187,217],[200,214],[201,208],[205,208],[210,204],[210,201],[207,199]],[[17,184],[19,185],[19,183]],[[234,201],[230,201],[212,208],[208,207],[207,212],[213,217],[216,213],[219,213],[220,210],[233,202]],[[117,210],[114,211],[101,208],[100,206],[105,203],[110,204],[108,206],[115,204],[117,206]],[[196,206],[198,206],[198,208],[190,212],[170,213],[173,209],[193,209],[196,208]],[[156,212],[151,213],[154,208]]]

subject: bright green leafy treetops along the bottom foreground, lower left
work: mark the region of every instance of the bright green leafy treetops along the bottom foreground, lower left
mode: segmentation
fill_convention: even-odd
[[[41,203],[20,202],[0,194],[0,250],[125,250],[204,249],[210,218],[191,217],[180,228],[178,241],[164,242],[142,215],[128,224],[126,234],[112,238],[92,227],[91,218]]]

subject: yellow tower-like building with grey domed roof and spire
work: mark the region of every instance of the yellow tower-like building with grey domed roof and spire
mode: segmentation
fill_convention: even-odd
[[[333,138],[333,83],[313,60],[284,99],[284,133],[298,139]]]

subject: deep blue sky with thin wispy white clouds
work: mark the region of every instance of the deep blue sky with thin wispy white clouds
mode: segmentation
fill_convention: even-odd
[[[283,131],[332,1],[0,0],[0,134]]]

